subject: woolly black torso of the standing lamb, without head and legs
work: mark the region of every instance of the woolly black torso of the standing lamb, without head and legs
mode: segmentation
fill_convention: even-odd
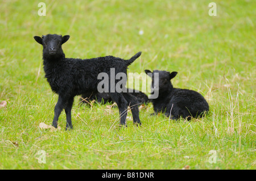
[[[113,56],[65,58],[57,64],[45,66],[46,78],[53,92],[58,94],[69,90],[74,95],[80,95],[82,91],[97,91],[98,82],[101,81],[98,74],[110,74],[111,68],[115,68],[115,74],[120,71],[126,73],[127,66],[125,60]]]

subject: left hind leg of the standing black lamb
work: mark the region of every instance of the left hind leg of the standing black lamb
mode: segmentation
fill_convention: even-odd
[[[112,100],[114,100],[115,103],[117,103],[118,109],[119,109],[119,115],[120,115],[120,124],[126,126],[126,116],[127,116],[127,108],[128,103],[126,99],[123,97],[121,93],[110,93],[110,96]]]

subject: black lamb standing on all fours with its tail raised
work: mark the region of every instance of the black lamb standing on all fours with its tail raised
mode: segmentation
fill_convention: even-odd
[[[114,68],[115,75],[125,73],[127,66],[141,56],[138,52],[130,60],[123,60],[113,56],[98,57],[91,59],[65,58],[61,48],[69,39],[69,35],[34,36],[34,39],[43,45],[43,66],[47,81],[53,92],[59,95],[54,109],[52,121],[53,127],[57,128],[57,121],[61,111],[64,109],[67,116],[66,129],[72,129],[71,109],[76,95],[91,95],[98,92],[97,85],[101,81],[97,79],[98,74],[110,75],[110,68]],[[109,76],[110,77],[110,76]],[[114,81],[116,85],[117,81]],[[113,88],[113,87],[112,87]],[[109,86],[110,92],[110,86]],[[133,114],[133,122],[141,124],[139,120],[139,109],[136,98],[129,92],[110,92],[111,98],[117,103],[120,114],[121,125],[126,125],[127,107],[130,104]]]

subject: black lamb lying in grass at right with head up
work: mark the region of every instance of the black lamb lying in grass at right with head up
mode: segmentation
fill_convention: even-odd
[[[160,70],[154,70],[153,72],[150,70],[144,71],[152,78],[151,94],[154,91],[159,91],[158,98],[151,99],[155,113],[165,112],[166,116],[174,120],[180,117],[191,120],[191,117],[201,117],[209,111],[207,101],[199,92],[188,89],[176,89],[172,86],[171,79],[176,76],[176,71],[172,73]]]

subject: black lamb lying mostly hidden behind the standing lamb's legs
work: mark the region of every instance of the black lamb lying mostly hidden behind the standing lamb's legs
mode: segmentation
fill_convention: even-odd
[[[127,89],[127,92],[129,92],[131,95],[136,97],[138,104],[147,104],[148,102],[150,102],[147,95],[141,91],[137,91],[134,89]],[[97,92],[97,94],[91,95],[89,97],[86,97],[86,95],[82,95],[80,102],[86,104],[92,100],[97,100],[98,103],[102,103],[102,104],[113,102],[113,100],[108,92]]]

